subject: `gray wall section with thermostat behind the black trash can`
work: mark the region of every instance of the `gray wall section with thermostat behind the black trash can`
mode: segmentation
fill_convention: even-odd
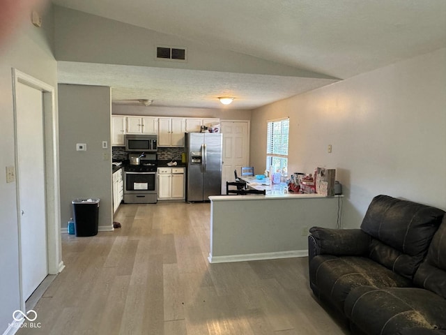
[[[63,228],[73,216],[71,202],[76,198],[100,198],[99,229],[113,228],[111,108],[109,87],[59,85]],[[102,149],[102,141],[108,142],[108,149]],[[76,151],[77,143],[85,143],[87,150]]]

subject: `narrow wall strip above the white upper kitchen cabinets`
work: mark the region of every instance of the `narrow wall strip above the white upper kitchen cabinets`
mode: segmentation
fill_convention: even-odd
[[[202,117],[226,120],[249,120],[251,110],[229,110],[226,108],[187,108],[187,107],[155,107],[138,105],[112,105],[115,115],[150,115],[153,117]]]

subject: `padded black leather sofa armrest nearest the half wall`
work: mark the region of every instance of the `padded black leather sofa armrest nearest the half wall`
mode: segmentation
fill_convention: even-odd
[[[313,227],[309,230],[309,260],[316,255],[362,256],[369,250],[371,237],[360,229],[330,229]]]

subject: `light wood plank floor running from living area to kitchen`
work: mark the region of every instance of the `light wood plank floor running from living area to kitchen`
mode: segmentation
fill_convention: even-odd
[[[123,204],[115,221],[63,234],[41,328],[17,334],[348,334],[312,297],[307,258],[208,264],[208,203]]]

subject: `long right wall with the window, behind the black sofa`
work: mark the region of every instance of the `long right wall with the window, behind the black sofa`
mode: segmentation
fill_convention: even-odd
[[[336,168],[344,226],[378,194],[446,209],[445,110],[441,49],[254,110],[251,163],[264,169],[267,120],[289,116],[289,172]]]

